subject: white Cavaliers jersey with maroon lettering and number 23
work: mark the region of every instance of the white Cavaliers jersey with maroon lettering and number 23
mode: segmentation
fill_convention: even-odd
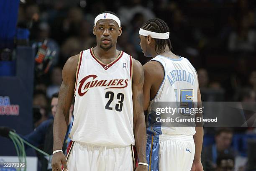
[[[132,71],[132,57],[123,51],[107,65],[92,48],[80,53],[71,140],[104,146],[134,144]]]

